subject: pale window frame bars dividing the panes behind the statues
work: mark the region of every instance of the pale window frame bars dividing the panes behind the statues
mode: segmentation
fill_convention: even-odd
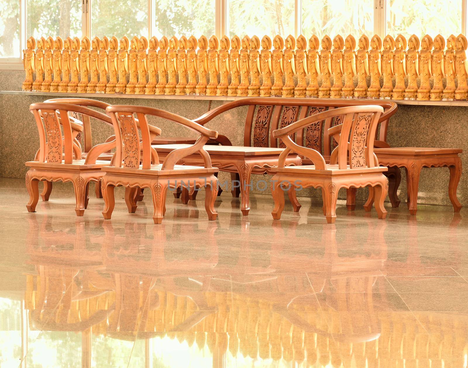
[[[20,57],[0,58],[0,70],[22,70],[22,50],[26,44],[26,1],[20,0]],[[82,7],[81,30],[91,39],[91,9],[93,0],[80,0]],[[148,0],[148,39],[153,36],[153,11],[156,0]],[[388,0],[374,0],[374,33],[385,37],[387,32],[386,8]],[[467,34],[467,0],[461,0],[461,33]],[[454,30],[454,32],[458,32]],[[294,0],[294,37],[302,33],[302,0]],[[215,35],[218,38],[229,34],[229,0],[215,0]],[[209,35],[206,35],[209,36]],[[307,36],[307,35],[305,35]]]

